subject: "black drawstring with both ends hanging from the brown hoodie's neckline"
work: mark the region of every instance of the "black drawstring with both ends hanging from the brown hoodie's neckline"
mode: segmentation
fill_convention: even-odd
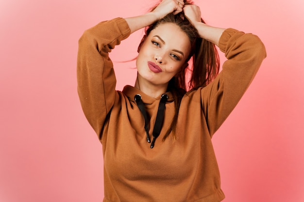
[[[162,128],[163,120],[164,120],[164,112],[165,112],[165,108],[166,108],[166,102],[167,102],[168,98],[169,98],[169,96],[166,93],[162,94],[162,96],[160,98],[160,102],[159,102],[159,106],[158,106],[158,110],[157,110],[157,115],[156,115],[156,120],[155,120],[153,133],[152,133],[153,140],[151,142],[151,140],[149,138],[148,116],[147,116],[147,112],[146,112],[144,103],[141,100],[140,94],[136,94],[134,96],[136,104],[137,104],[139,110],[141,111],[141,113],[142,113],[142,115],[144,116],[144,119],[145,119],[145,130],[146,130],[146,134],[147,134],[147,141],[149,143],[151,142],[150,148],[154,147],[155,140],[160,134],[160,130]]]

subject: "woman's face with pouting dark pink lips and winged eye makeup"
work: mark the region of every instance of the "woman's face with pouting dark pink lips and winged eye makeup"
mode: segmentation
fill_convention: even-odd
[[[140,47],[136,60],[138,80],[152,85],[168,85],[185,65],[190,47],[188,36],[177,25],[157,26]]]

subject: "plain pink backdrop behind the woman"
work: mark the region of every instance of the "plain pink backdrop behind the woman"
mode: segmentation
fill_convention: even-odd
[[[208,24],[253,32],[268,52],[213,139],[224,202],[304,202],[303,0],[196,2]],[[78,39],[151,5],[0,0],[0,202],[102,201],[102,148],[76,90]],[[119,61],[136,56],[141,34],[111,53],[118,89],[134,84],[134,62]]]

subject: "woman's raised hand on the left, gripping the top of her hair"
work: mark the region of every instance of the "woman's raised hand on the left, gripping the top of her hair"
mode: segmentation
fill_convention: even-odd
[[[184,5],[184,0],[162,0],[152,13],[156,14],[158,19],[161,19],[169,13],[176,15],[182,12]]]

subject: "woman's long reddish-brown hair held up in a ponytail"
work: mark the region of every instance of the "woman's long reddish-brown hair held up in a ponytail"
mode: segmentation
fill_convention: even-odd
[[[184,0],[184,2],[185,5],[193,4],[191,0]],[[156,7],[157,5],[153,7],[151,11]],[[202,18],[201,20],[205,23]],[[220,59],[215,45],[201,38],[196,28],[183,13],[178,15],[170,13],[162,19],[157,20],[152,25],[146,27],[145,35],[139,44],[138,50],[152,30],[159,25],[166,23],[174,23],[179,26],[180,29],[189,37],[191,44],[190,54],[186,60],[186,62],[192,63],[191,67],[189,65],[184,65],[183,69],[175,77],[171,78],[168,85],[168,91],[172,93],[175,101],[175,113],[163,140],[166,140],[171,132],[173,139],[176,140],[177,117],[182,97],[187,90],[196,90],[213,81],[219,74]],[[188,74],[190,74],[190,78],[186,78]]]

